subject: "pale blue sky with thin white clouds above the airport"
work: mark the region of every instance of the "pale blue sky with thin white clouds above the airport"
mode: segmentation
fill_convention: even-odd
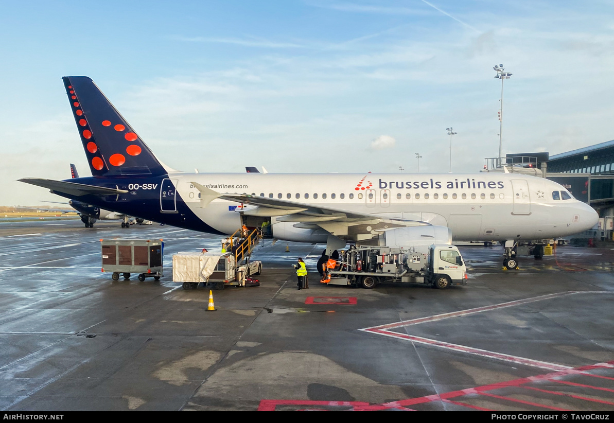
[[[614,138],[614,3],[0,0],[0,205],[89,168],[62,76],[91,77],[166,165],[474,173]],[[403,169],[401,171],[400,169]]]

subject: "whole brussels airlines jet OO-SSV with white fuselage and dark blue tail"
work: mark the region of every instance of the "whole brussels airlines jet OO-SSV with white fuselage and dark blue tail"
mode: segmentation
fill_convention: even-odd
[[[175,171],[90,78],[63,80],[92,176],[20,180],[98,208],[220,235],[266,221],[275,239],[343,245],[375,242],[390,230],[417,239],[548,239],[598,219],[561,185],[519,174]]]

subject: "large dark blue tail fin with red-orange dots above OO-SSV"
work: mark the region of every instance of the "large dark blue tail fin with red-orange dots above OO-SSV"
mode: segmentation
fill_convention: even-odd
[[[92,176],[161,175],[166,169],[87,76],[65,76],[64,87]]]

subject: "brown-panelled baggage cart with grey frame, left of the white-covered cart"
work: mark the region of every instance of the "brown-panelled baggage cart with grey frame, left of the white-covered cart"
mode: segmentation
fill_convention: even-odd
[[[156,281],[163,276],[161,239],[101,239],[103,266],[101,271],[112,272],[112,279],[130,279],[139,274],[139,281],[153,277]]]

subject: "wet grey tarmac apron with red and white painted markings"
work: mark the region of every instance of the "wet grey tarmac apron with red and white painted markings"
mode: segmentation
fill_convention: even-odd
[[[112,281],[101,238],[165,240],[160,281]],[[317,283],[324,246],[265,241],[260,287],[183,290],[172,254],[220,237],[78,220],[0,223],[0,408],[611,410],[614,249],[558,247],[503,271],[461,246],[448,290]],[[286,252],[289,247],[289,252]],[[613,246],[614,247],[614,246]]]

